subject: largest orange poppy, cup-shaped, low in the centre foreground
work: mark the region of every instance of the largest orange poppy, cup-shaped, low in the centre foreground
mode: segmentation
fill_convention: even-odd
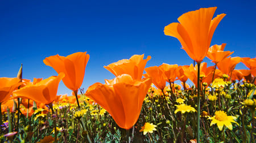
[[[106,109],[119,127],[130,129],[139,118],[143,100],[152,83],[151,78],[139,81],[123,74],[105,82],[89,86],[85,96]]]

